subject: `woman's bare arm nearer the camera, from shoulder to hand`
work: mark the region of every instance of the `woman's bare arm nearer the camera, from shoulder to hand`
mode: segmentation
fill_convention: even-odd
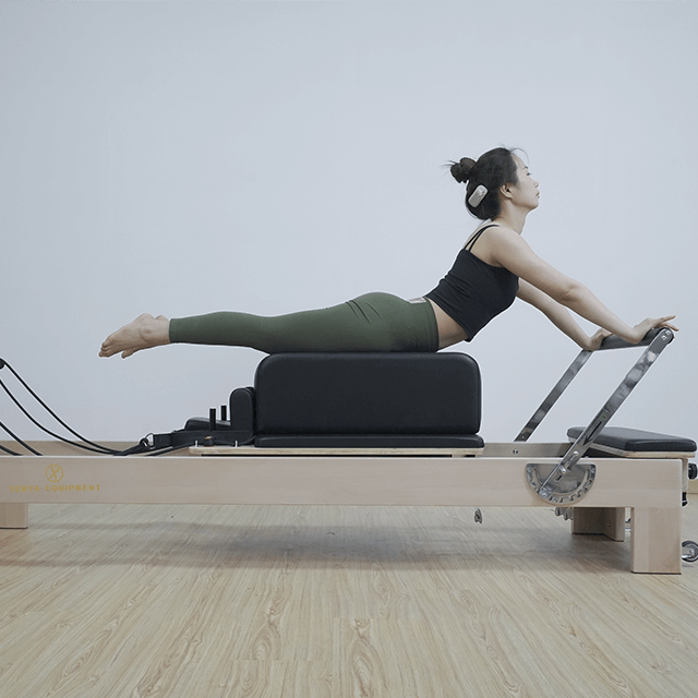
[[[669,322],[674,315],[647,317],[631,327],[611,312],[583,284],[565,276],[541,260],[514,230],[494,228],[488,233],[488,248],[492,258],[498,264],[554,301],[622,339],[637,344],[653,327],[676,329]]]

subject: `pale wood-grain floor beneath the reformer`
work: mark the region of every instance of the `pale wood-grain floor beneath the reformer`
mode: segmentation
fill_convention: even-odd
[[[696,695],[698,564],[473,513],[33,505],[0,531],[0,696]]]

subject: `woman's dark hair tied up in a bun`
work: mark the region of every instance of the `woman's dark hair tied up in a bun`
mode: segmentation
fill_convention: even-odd
[[[514,149],[494,148],[481,155],[476,163],[470,157],[464,157],[458,163],[452,163],[450,173],[457,182],[468,182],[466,185],[466,207],[481,220],[496,218],[501,212],[500,188],[503,184],[518,182]],[[480,185],[488,188],[485,197],[477,205],[468,203],[470,196]]]

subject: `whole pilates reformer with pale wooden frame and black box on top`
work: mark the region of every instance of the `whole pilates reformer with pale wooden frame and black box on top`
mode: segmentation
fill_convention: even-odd
[[[623,541],[629,508],[633,571],[679,574],[698,558],[698,544],[684,541],[682,555],[681,541],[696,444],[606,426],[672,339],[670,329],[639,345],[606,338],[601,350],[645,351],[586,428],[547,444],[528,440],[592,352],[513,443],[491,444],[478,435],[480,373],[467,354],[269,356],[219,420],[212,410],[140,447],[110,444],[123,458],[76,455],[73,442],[0,452],[0,527],[26,528],[29,503],[543,506],[573,533]]]

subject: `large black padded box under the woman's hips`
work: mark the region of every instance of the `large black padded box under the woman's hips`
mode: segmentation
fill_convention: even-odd
[[[257,366],[254,390],[258,445],[280,435],[323,435],[318,446],[338,444],[339,436],[357,447],[429,447],[416,436],[461,437],[452,447],[483,445],[473,438],[480,369],[464,353],[272,354]],[[443,440],[426,441],[440,447]]]

